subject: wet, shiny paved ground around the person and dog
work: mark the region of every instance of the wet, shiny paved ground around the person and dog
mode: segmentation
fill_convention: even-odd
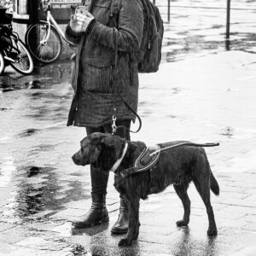
[[[220,186],[220,195],[212,195],[218,236],[207,237],[207,212],[191,184],[188,228],[176,226],[183,207],[170,187],[141,202],[138,241],[119,248],[123,236],[110,234],[119,213],[113,175],[107,195],[110,223],[72,230],[72,221],[90,208],[90,172],[71,160],[85,131],[66,126],[73,95],[67,61],[37,67],[27,77],[8,69],[0,78],[1,256],[256,254],[256,55],[255,43],[249,42],[255,37],[251,32],[256,26],[252,22],[256,7],[255,2],[247,3],[247,8],[234,2],[237,12],[233,18],[242,17],[243,22],[234,21],[232,27],[241,43],[231,41],[232,50],[225,51],[223,34],[212,27],[223,26],[214,17],[220,19],[219,14],[224,14],[224,3],[215,3],[219,3],[218,9],[207,9],[207,3],[201,1],[173,2],[171,19],[176,19],[166,25],[166,63],[159,73],[140,76],[143,129],[132,140],[220,143],[218,148],[207,148]],[[180,7],[185,4],[190,8]],[[199,5],[205,8],[195,11]],[[196,21],[199,10],[201,21]],[[242,11],[247,15],[242,16]],[[182,21],[189,17],[195,22]],[[204,22],[206,17],[209,20]],[[185,38],[178,37],[183,35],[181,26]],[[190,30],[192,26],[199,29]],[[216,34],[218,44],[192,40],[188,34],[195,31],[207,32],[207,38]],[[134,130],[136,127],[132,125]]]

